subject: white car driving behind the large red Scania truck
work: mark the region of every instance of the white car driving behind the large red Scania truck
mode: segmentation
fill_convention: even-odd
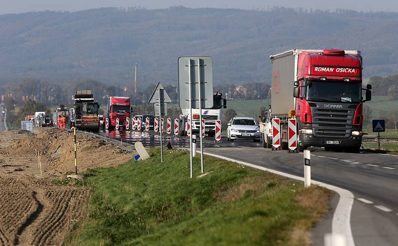
[[[227,138],[231,142],[234,139],[253,139],[254,142],[260,142],[260,127],[254,118],[235,117],[228,123]]]

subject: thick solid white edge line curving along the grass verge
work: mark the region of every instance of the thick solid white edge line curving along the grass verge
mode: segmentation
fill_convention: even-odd
[[[269,171],[269,172],[272,172],[272,173],[275,173],[277,175],[281,175],[284,177],[296,179],[299,181],[304,181],[303,177],[292,175],[292,174],[289,174],[286,172],[277,171],[277,170],[270,169],[270,168],[267,168],[264,166],[245,163],[245,162],[237,161],[237,160],[234,160],[231,158],[207,153],[207,152],[203,152],[203,154],[207,155],[207,156],[215,157],[218,159],[222,159],[225,161],[250,166],[250,167],[253,167],[253,168],[256,168],[259,170]],[[349,190],[342,189],[340,187],[337,187],[337,186],[334,186],[331,184],[326,184],[326,183],[322,183],[322,182],[315,181],[315,180],[311,180],[311,183],[319,185],[319,186],[324,187],[329,190],[333,190],[339,194],[340,199],[339,199],[339,202],[337,203],[336,210],[334,211],[333,219],[332,219],[332,234],[343,235],[345,238],[345,241],[346,241],[345,246],[355,246],[354,238],[352,237],[352,231],[351,231],[351,209],[352,209],[352,205],[354,203],[354,194],[352,194],[352,192]]]

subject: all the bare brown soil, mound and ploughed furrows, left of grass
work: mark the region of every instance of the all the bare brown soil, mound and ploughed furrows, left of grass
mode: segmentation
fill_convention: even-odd
[[[80,134],[77,153],[78,171],[115,166],[132,158],[121,146]],[[63,244],[90,198],[87,187],[52,182],[74,173],[74,158],[73,135],[65,130],[0,133],[0,245]]]

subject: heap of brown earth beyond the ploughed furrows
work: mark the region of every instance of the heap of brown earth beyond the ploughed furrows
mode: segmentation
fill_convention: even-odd
[[[74,171],[74,136],[60,129],[44,129],[36,135],[27,135],[14,144],[0,149],[0,155],[30,155],[35,158],[36,151],[46,159],[52,170],[49,174],[64,174]],[[77,135],[78,170],[97,166],[114,166],[132,158],[129,151],[104,139],[83,134]]]

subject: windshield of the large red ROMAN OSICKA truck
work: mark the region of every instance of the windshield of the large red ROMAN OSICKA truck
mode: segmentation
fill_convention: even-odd
[[[306,99],[318,102],[360,102],[361,83],[310,81],[306,89]]]

